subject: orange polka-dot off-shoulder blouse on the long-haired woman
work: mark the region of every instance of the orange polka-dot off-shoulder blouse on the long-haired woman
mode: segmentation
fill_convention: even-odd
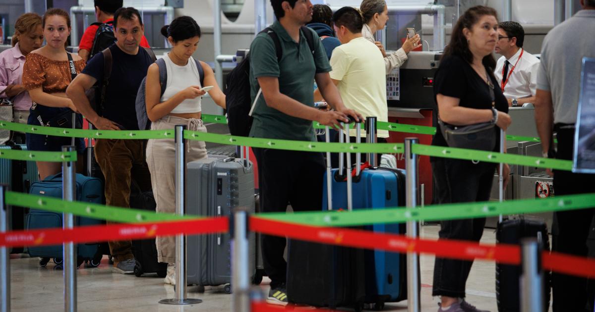
[[[77,74],[84,68],[83,59],[74,61]],[[54,61],[38,53],[29,53],[23,65],[23,86],[27,90],[42,87],[45,93],[66,92],[70,84],[68,61]]]

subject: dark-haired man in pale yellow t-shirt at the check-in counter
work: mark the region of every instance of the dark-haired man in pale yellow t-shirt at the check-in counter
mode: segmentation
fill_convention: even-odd
[[[364,23],[354,8],[340,8],[333,14],[333,23],[342,45],[333,50],[330,76],[339,89],[343,103],[346,108],[354,109],[364,117],[375,116],[378,121],[388,121],[382,52],[374,43],[362,37]],[[320,92],[315,92],[314,100],[321,99]],[[355,137],[355,130],[349,134]],[[365,135],[363,130],[362,135]],[[387,137],[389,131],[378,131],[378,141],[386,142]]]

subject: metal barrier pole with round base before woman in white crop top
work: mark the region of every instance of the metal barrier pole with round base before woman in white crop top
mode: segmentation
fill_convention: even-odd
[[[186,149],[184,147],[185,125],[176,125],[174,132],[176,142],[176,214],[186,213]],[[188,285],[186,282],[186,237],[176,235],[176,298],[163,299],[162,304],[198,304],[200,299],[187,298]]]

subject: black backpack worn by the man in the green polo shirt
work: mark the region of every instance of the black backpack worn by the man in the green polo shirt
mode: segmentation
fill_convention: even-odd
[[[306,37],[306,42],[312,55],[315,52],[314,35],[308,27],[301,27],[302,33]],[[281,61],[283,51],[279,37],[270,27],[261,31],[267,33],[275,43],[277,51],[277,62]],[[237,64],[231,73],[227,75],[226,84],[226,109],[227,125],[231,135],[240,135],[248,137],[252,127],[252,116],[249,115],[252,108],[252,99],[250,97],[250,55]]]

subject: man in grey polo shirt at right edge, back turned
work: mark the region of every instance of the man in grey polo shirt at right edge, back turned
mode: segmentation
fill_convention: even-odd
[[[535,119],[543,156],[572,159],[574,124],[577,120],[581,60],[595,57],[595,0],[581,0],[583,9],[550,30],[543,40],[541,65],[537,74]],[[552,130],[558,133],[558,149],[553,153]],[[556,195],[594,193],[595,175],[554,171]],[[553,250],[587,256],[587,235],[595,208],[556,213],[559,234]],[[553,310],[587,311],[587,279],[554,273]],[[593,311],[593,308],[590,308]]]

